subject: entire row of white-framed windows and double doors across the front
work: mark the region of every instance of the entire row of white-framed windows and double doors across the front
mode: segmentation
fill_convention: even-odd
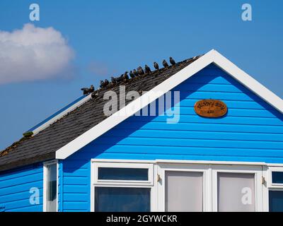
[[[92,160],[92,211],[283,211],[283,167],[118,161]]]

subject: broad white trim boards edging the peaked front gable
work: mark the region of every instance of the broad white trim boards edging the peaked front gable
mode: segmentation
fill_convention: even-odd
[[[187,78],[190,78],[195,73],[212,63],[219,66],[221,69],[226,71],[226,73],[229,73],[230,76],[245,85],[248,89],[252,90],[255,94],[262,97],[263,100],[278,109],[279,112],[283,113],[283,100],[280,97],[265,88],[265,86],[261,85],[258,81],[255,81],[254,78],[250,77],[247,73],[239,69],[235,64],[219,54],[219,52],[212,49],[207,54],[204,54],[204,56],[192,62],[192,64],[189,64],[184,69],[175,73],[175,75],[166,79],[166,81],[163,81],[163,83],[156,85],[151,92],[141,95],[141,97],[130,102],[126,107],[115,112],[115,114],[112,114],[110,117],[101,121],[96,126],[93,126],[92,129],[89,129],[85,133],[81,134],[81,136],[77,137],[70,143],[67,143],[67,145],[64,145],[64,147],[57,150],[56,158],[65,159],[69,157],[69,155],[72,155],[77,150],[83,148],[83,146],[91,143],[91,141],[98,138],[98,136],[101,136],[103,133],[109,131],[117,124],[120,124],[120,122],[132,116],[161,95],[167,93],[169,90],[172,90],[175,88],[175,86],[179,85]],[[159,93],[159,95],[152,95],[153,93]],[[127,114],[121,114],[122,112],[127,112]]]

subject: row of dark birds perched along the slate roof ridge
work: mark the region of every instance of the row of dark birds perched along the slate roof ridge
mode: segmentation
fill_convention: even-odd
[[[169,58],[170,64],[171,65],[175,65],[175,61],[172,57]],[[165,59],[163,59],[162,61],[162,65],[164,68],[167,68],[169,66],[169,64],[167,63],[167,61]],[[159,70],[159,66],[156,62],[154,62],[154,69]],[[128,76],[129,73],[129,76]],[[119,77],[111,77],[111,81],[108,81],[108,79],[105,79],[105,81],[100,81],[100,89],[101,88],[105,88],[108,87],[108,85],[114,86],[122,81],[127,82],[130,78],[135,78],[138,76],[143,76],[145,74],[149,74],[151,73],[151,69],[148,65],[144,66],[144,69],[139,66],[137,69],[134,69],[132,71],[125,71],[125,73],[123,73],[121,76]],[[90,93],[92,93],[92,97],[96,97],[98,95],[98,90],[95,90],[94,86],[91,85],[90,88],[81,88],[81,90],[83,91],[83,95],[88,95]],[[96,91],[96,92],[94,92]]]

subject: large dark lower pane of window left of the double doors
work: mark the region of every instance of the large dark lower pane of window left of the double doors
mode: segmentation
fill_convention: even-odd
[[[96,212],[149,212],[149,188],[96,187]]]

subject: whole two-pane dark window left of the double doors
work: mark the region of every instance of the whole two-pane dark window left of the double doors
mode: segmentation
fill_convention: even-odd
[[[149,212],[153,165],[92,162],[93,210],[96,212]]]

